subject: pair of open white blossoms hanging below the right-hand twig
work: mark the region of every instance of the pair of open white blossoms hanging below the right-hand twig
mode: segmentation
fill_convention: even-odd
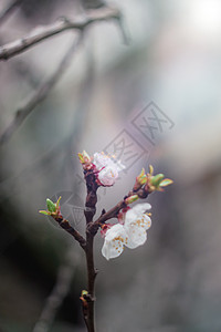
[[[138,204],[123,216],[120,214],[120,222],[124,224],[114,225],[105,235],[102,253],[107,260],[118,257],[123,252],[124,246],[134,249],[145,243],[146,230],[151,226],[151,219],[146,214],[150,207],[148,203]]]

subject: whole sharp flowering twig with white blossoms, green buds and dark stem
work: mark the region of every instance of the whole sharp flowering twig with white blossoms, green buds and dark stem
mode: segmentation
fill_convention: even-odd
[[[172,184],[172,180],[165,178],[164,174],[154,175],[152,166],[146,174],[145,168],[136,177],[131,190],[109,210],[102,210],[101,216],[94,220],[97,203],[97,189],[101,186],[113,186],[118,178],[119,172],[125,166],[114,156],[104,153],[95,153],[90,156],[85,151],[78,154],[80,162],[84,170],[87,195],[85,203],[85,221],[86,237],[82,236],[75,227],[71,226],[69,220],[63,218],[61,214],[60,200],[53,203],[46,199],[46,210],[40,212],[51,216],[60,227],[67,231],[78,241],[85,252],[87,261],[87,284],[88,290],[83,290],[81,301],[83,308],[84,320],[88,331],[94,331],[94,284],[97,271],[94,268],[93,258],[93,238],[101,228],[104,237],[102,255],[107,259],[118,257],[125,247],[129,249],[144,245],[147,240],[147,230],[151,226],[151,214],[147,212],[151,206],[148,203],[137,204],[129,207],[130,204],[138,199],[146,199],[150,193],[162,191],[162,188]],[[109,224],[108,220],[117,218],[116,224]]]

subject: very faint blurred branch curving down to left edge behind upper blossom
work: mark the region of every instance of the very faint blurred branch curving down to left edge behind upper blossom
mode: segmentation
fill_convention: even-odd
[[[87,45],[86,45],[87,46]],[[33,177],[41,173],[42,167],[50,169],[54,163],[54,158],[61,157],[65,167],[70,168],[70,173],[77,168],[75,159],[70,158],[73,152],[78,151],[78,142],[82,139],[83,126],[87,122],[90,113],[90,103],[93,95],[94,87],[94,69],[95,59],[93,53],[93,45],[88,44],[86,49],[86,71],[83,82],[81,84],[78,95],[78,102],[76,103],[75,111],[72,118],[72,131],[62,139],[59,144],[55,144],[52,148],[38,156],[33,163],[29,164],[21,173],[14,177],[7,179],[0,184],[0,201],[6,197],[15,195],[18,188],[18,181],[28,183]],[[65,148],[64,148],[65,147]],[[69,156],[67,158],[65,156]],[[76,184],[74,184],[76,186]],[[76,188],[75,188],[76,189]]]

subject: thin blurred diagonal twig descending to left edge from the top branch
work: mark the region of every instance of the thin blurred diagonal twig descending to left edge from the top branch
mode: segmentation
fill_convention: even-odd
[[[62,74],[67,70],[73,53],[77,49],[81,40],[82,40],[82,34],[77,37],[77,40],[75,40],[74,43],[71,45],[71,48],[67,50],[59,68],[55,70],[52,76],[42,85],[40,85],[40,87],[34,92],[30,101],[24,106],[20,107],[15,112],[12,122],[9,124],[6,131],[0,135],[0,144],[8,142],[11,138],[12,134],[17,131],[17,128],[27,118],[27,116],[34,110],[34,107],[36,107],[48,96],[48,94],[50,93],[52,87],[57,83]]]

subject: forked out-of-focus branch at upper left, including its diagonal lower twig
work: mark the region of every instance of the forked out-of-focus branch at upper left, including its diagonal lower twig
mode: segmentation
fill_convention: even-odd
[[[110,9],[105,8],[98,11],[95,11],[93,13],[87,14],[86,19],[76,19],[75,21],[71,22],[70,20],[63,18],[62,21],[60,20],[57,23],[54,23],[53,25],[49,27],[42,27],[36,28],[29,37],[18,40],[15,42],[12,42],[8,45],[4,45],[0,49],[0,59],[8,59],[10,56],[13,56],[18,53],[23,52],[28,48],[34,45],[38,42],[41,42],[42,40],[50,38],[56,33],[60,33],[67,29],[80,29],[81,33],[78,35],[78,39],[74,41],[73,45],[71,45],[70,50],[64,55],[63,60],[61,61],[59,68],[54,72],[54,74],[40,87],[36,90],[36,92],[31,96],[29,102],[24,104],[24,106],[20,107],[12,120],[12,122],[9,124],[9,126],[6,128],[6,131],[0,135],[0,144],[3,144],[10,139],[10,137],[13,135],[14,131],[21,125],[21,123],[25,120],[25,117],[34,110],[34,107],[40,104],[49,94],[49,92],[52,90],[52,87],[57,83],[62,74],[66,71],[66,69],[71,64],[72,55],[76,48],[80,45],[80,42],[82,40],[84,28],[86,28],[88,24],[95,22],[95,21],[103,21],[108,19],[117,19],[119,29],[122,31],[123,40],[125,43],[127,43],[127,33],[124,30],[124,25],[122,22],[120,12],[117,9]]]

